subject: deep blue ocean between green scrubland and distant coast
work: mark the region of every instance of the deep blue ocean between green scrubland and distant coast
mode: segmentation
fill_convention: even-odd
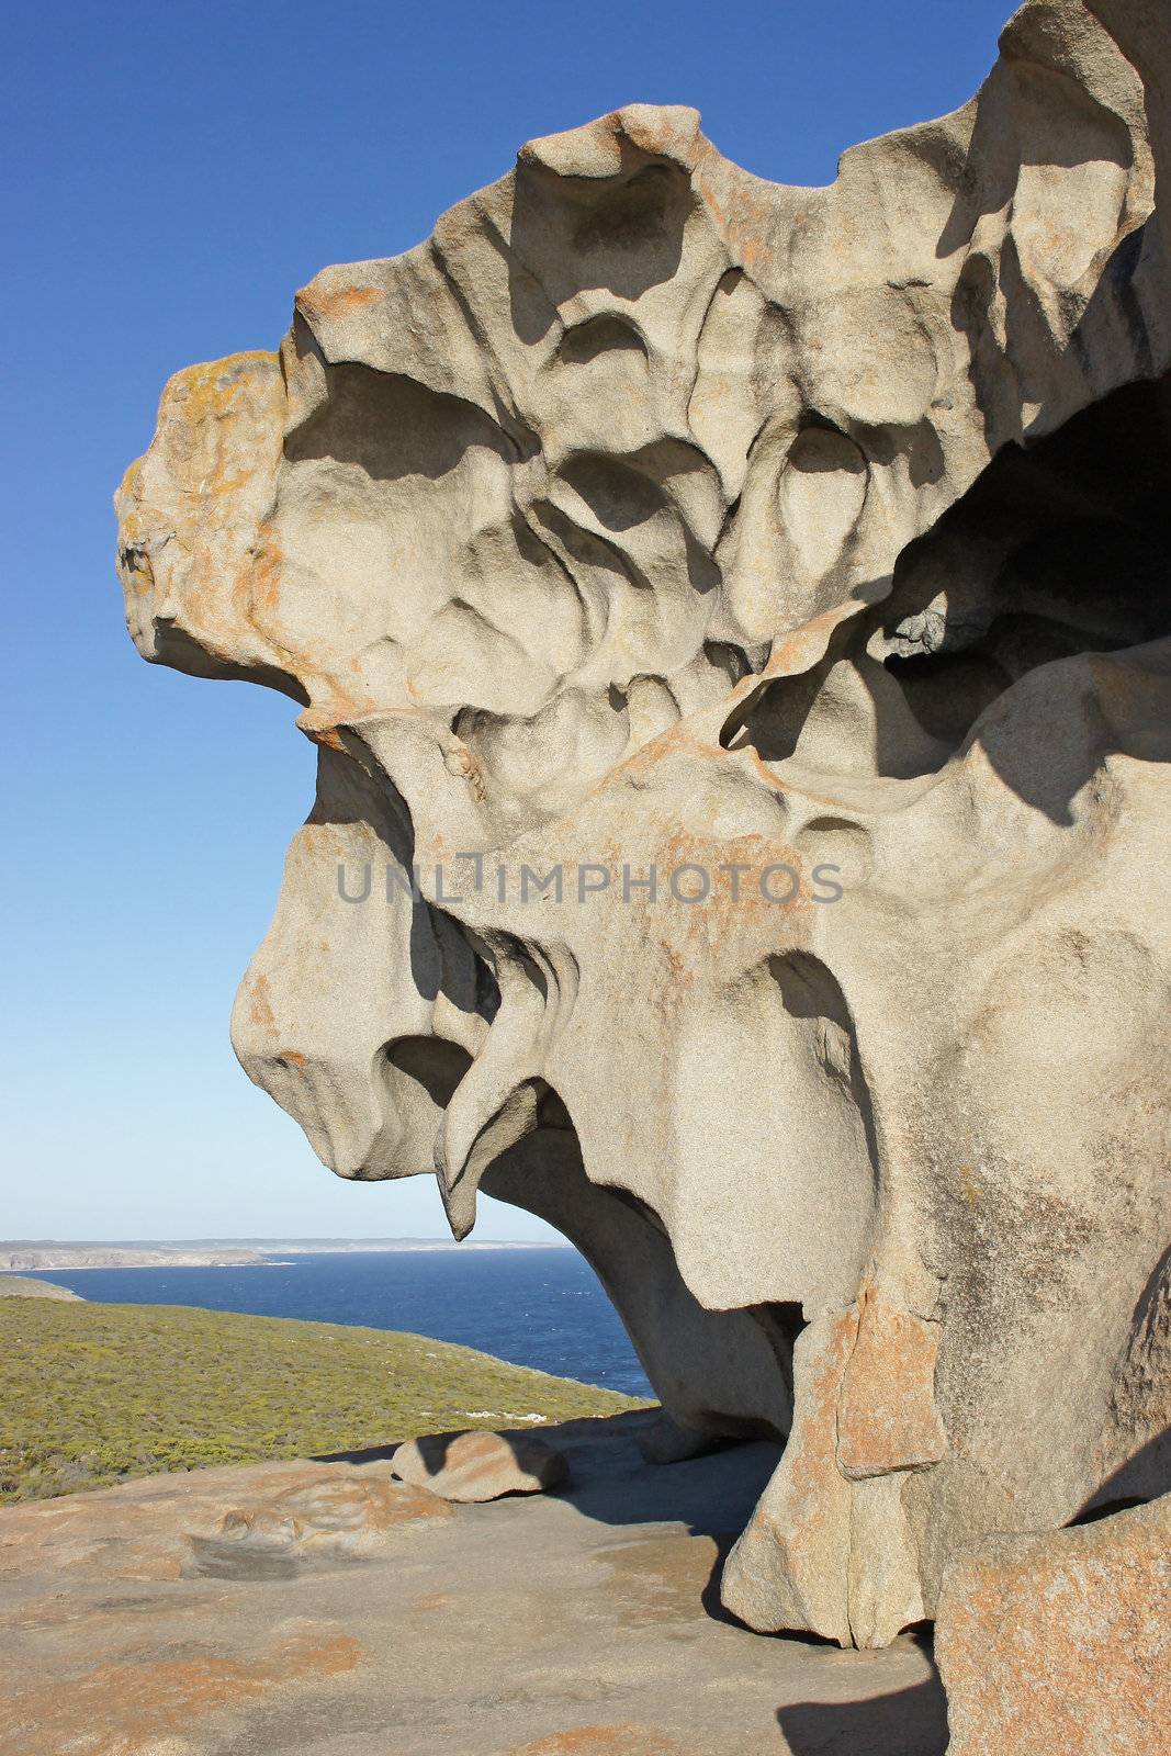
[[[84,1299],[409,1329],[629,1396],[653,1396],[618,1313],[576,1250],[384,1250],[256,1268],[37,1270]]]

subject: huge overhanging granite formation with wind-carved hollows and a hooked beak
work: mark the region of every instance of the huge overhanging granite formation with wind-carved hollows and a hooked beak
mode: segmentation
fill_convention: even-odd
[[[1171,1486],[1169,70],[1032,0],[829,188],[690,109],[534,140],[118,497],[142,655],[320,746],[244,1068],[458,1234],[551,1219],[685,1429],[790,1435],[762,1630],[881,1645]]]

